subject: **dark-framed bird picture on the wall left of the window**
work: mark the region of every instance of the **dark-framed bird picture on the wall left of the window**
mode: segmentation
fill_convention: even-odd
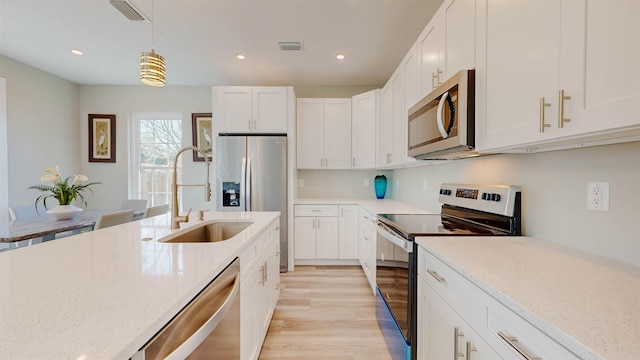
[[[116,116],[89,114],[89,162],[116,162]]]

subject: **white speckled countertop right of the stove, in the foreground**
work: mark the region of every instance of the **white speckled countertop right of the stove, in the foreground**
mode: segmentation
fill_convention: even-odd
[[[582,359],[640,359],[640,268],[528,237],[417,243]]]

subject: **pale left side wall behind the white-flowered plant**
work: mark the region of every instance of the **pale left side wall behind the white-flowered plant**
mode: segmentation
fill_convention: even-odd
[[[33,205],[40,193],[26,188],[40,184],[45,167],[59,165],[63,176],[82,171],[78,86],[2,55],[0,76],[6,78],[9,205]]]

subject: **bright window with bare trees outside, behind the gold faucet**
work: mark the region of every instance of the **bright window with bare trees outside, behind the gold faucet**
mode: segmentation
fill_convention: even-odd
[[[147,199],[148,206],[169,204],[173,161],[182,147],[179,113],[135,113],[131,121],[129,196]],[[180,182],[181,162],[178,162]],[[181,201],[178,193],[178,201]]]

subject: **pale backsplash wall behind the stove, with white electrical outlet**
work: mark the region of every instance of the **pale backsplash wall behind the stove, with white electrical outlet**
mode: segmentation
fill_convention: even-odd
[[[640,266],[640,142],[456,160],[392,177],[395,199],[432,210],[442,182],[520,185],[524,235]],[[587,210],[588,181],[610,182],[609,212]]]

